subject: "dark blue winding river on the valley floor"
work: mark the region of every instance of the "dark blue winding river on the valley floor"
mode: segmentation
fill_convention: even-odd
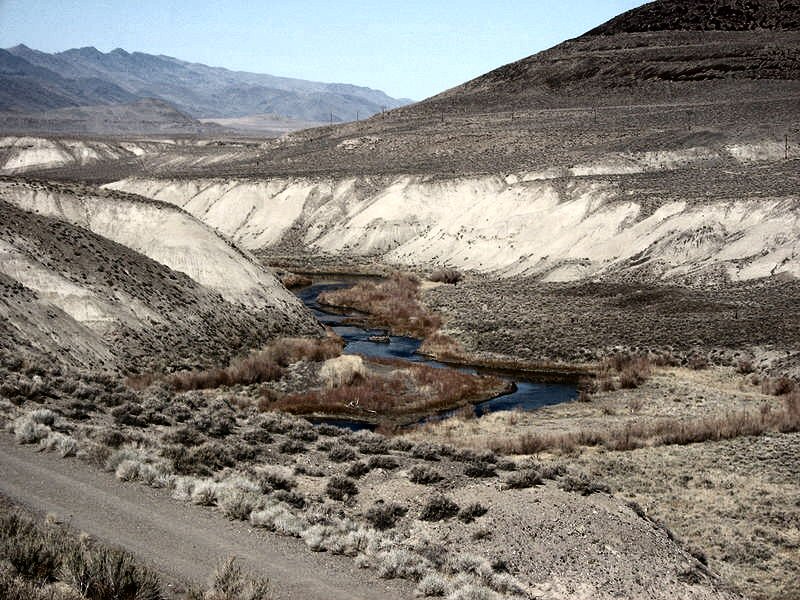
[[[512,382],[513,391],[474,405],[475,415],[480,417],[489,413],[507,410],[534,410],[543,406],[574,400],[577,395],[576,382],[546,382],[537,380],[531,373],[519,371],[498,371],[483,367],[451,365],[432,360],[418,353],[422,340],[412,337],[390,335],[385,329],[366,329],[351,323],[354,318],[363,317],[356,312],[337,311],[323,307],[318,302],[322,292],[350,287],[362,278],[321,277],[315,278],[312,285],[295,290],[297,297],[314,313],[322,323],[333,329],[345,341],[345,354],[360,354],[364,357],[391,358],[419,363],[440,369],[458,369],[465,373],[486,374],[502,377]],[[381,339],[381,341],[376,341]],[[388,342],[386,341],[388,339]],[[443,411],[426,417],[423,421],[443,419],[456,411]],[[372,425],[349,419],[325,419],[326,423],[348,429],[373,428]]]

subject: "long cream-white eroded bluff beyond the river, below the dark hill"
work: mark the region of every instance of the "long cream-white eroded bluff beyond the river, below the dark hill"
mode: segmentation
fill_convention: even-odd
[[[711,180],[713,196],[687,197],[669,177],[735,179],[797,164],[784,159],[781,144],[751,142],[611,153],[504,176],[131,178],[107,187],[180,206],[253,251],[299,243],[343,258],[545,281],[746,280],[800,275],[800,194],[726,195]],[[637,174],[656,176],[645,184],[647,202],[625,185]],[[667,177],[663,193],[659,174]]]

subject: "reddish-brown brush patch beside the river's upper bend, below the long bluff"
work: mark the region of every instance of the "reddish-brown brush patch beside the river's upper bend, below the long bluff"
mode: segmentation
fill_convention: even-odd
[[[441,326],[441,319],[420,303],[419,280],[413,275],[394,273],[379,283],[362,281],[353,287],[324,292],[320,304],[352,308],[370,315],[370,322],[402,335],[424,338]]]

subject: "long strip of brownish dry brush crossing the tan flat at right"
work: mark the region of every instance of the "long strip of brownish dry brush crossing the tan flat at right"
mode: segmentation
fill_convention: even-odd
[[[741,410],[699,419],[660,419],[653,422],[627,423],[607,432],[537,434],[496,438],[489,444],[503,454],[538,454],[544,451],[572,452],[580,446],[605,446],[610,450],[627,451],[644,446],[686,445],[717,442],[742,436],[759,436],[768,432],[800,431],[800,391],[783,398],[783,406],[773,408],[764,403],[759,410]]]

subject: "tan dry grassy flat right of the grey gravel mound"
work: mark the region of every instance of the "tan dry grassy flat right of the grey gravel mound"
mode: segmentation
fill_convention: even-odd
[[[636,389],[454,417],[407,437],[579,465],[748,597],[783,600],[800,570],[800,397],[761,384],[730,367],[656,367]]]

